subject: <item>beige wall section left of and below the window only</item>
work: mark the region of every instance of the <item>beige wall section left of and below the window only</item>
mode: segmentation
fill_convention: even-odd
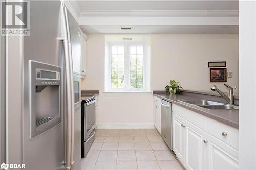
[[[104,35],[88,35],[86,42],[86,79],[81,81],[82,90],[99,90],[98,124],[152,127],[152,95],[104,94]]]

